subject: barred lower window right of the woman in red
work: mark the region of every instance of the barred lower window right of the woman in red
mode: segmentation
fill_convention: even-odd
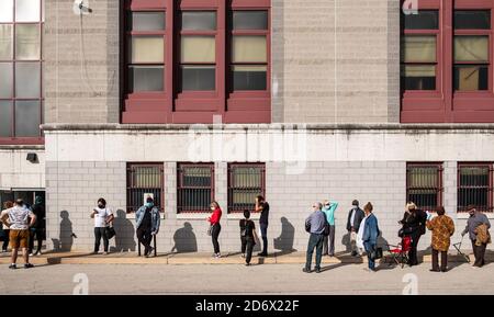
[[[250,212],[256,196],[266,195],[266,167],[263,163],[228,165],[228,213]]]

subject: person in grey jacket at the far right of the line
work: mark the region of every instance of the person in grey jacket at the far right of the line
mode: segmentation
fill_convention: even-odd
[[[474,205],[469,205],[467,211],[469,212],[470,217],[461,236],[463,237],[469,234],[469,238],[472,241],[473,256],[475,257],[475,262],[472,268],[482,268],[485,264],[485,249],[490,241],[489,229],[491,228],[491,223],[489,222],[487,216],[476,211]],[[484,233],[484,239],[479,237],[482,234],[481,230]]]

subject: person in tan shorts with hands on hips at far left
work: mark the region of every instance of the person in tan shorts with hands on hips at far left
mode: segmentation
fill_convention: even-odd
[[[36,215],[26,207],[24,201],[19,199],[12,208],[5,210],[0,214],[0,220],[10,229],[9,239],[12,248],[11,264],[9,269],[15,270],[19,249],[22,249],[24,258],[24,269],[33,268],[30,263],[30,253],[27,248],[30,244],[30,227],[36,223]]]

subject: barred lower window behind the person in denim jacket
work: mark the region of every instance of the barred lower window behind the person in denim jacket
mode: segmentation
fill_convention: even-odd
[[[165,211],[162,163],[128,163],[127,213],[136,212],[148,196],[160,212]]]

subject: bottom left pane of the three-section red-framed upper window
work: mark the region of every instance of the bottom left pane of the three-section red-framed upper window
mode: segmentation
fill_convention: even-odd
[[[130,66],[128,90],[137,91],[162,91],[164,90],[162,66]]]

